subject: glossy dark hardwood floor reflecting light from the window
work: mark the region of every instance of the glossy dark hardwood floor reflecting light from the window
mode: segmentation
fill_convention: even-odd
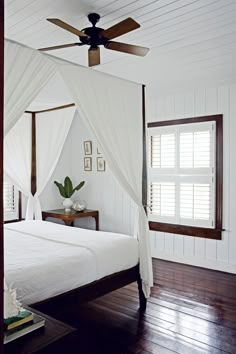
[[[160,260],[153,266],[144,315],[136,284],[57,314],[78,328],[76,353],[236,354],[236,275]]]

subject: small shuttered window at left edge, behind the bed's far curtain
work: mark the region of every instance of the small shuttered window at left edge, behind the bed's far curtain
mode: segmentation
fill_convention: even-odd
[[[18,219],[18,192],[10,182],[3,183],[4,221]]]

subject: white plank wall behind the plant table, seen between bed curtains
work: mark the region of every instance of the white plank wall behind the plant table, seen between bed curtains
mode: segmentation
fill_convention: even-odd
[[[84,147],[83,142],[92,140],[88,130],[76,113],[72,122],[67,140],[63,147],[58,165],[48,182],[43,194],[40,196],[42,210],[62,208],[63,198],[60,196],[54,180],[62,182],[65,176],[70,176],[74,184],[85,181],[85,186],[76,192],[73,200],[85,200],[87,208],[98,209],[100,212],[100,230],[112,231],[132,235],[134,224],[134,205],[114,179],[109,167],[105,172],[97,172],[96,145],[92,142],[92,171],[84,171]],[[23,215],[25,215],[26,203],[24,200]],[[60,220],[54,219],[54,222]],[[94,228],[92,218],[84,218],[76,221],[76,226]]]

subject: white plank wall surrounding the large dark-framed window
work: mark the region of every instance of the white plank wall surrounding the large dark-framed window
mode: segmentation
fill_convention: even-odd
[[[223,239],[151,232],[152,254],[157,258],[236,273],[236,85],[200,88],[164,97],[152,91],[149,94],[149,122],[224,115]]]

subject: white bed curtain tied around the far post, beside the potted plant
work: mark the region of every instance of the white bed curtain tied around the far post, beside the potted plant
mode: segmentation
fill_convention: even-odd
[[[59,160],[75,114],[75,107],[36,114],[37,191],[31,194],[31,114],[24,114],[4,141],[4,170],[28,197],[26,220],[42,219],[39,196]]]

